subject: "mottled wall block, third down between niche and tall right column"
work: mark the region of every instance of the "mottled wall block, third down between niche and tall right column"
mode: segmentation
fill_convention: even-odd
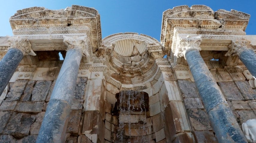
[[[213,130],[206,111],[202,109],[187,109],[187,114],[195,130]]]

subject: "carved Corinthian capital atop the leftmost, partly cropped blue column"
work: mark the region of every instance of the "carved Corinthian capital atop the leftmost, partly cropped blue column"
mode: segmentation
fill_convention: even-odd
[[[36,55],[34,51],[31,49],[31,44],[27,38],[10,37],[10,36],[8,37],[9,37],[8,43],[10,45],[10,48],[19,49],[23,53],[23,55],[33,55],[33,56]]]

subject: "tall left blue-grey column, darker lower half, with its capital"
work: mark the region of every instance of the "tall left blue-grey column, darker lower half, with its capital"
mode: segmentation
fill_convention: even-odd
[[[82,54],[88,53],[86,41],[86,36],[64,37],[67,54],[47,105],[37,143],[64,142],[79,65]]]

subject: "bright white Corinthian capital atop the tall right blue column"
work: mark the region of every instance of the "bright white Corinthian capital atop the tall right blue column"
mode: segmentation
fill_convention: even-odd
[[[199,47],[201,44],[202,38],[201,36],[190,36],[187,35],[187,37],[179,37],[179,45],[174,53],[177,57],[185,57],[186,52],[192,49],[197,49],[201,51],[201,48]]]

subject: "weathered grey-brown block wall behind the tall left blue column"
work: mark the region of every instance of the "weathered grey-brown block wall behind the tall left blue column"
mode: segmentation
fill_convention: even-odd
[[[77,142],[87,77],[78,77],[66,142]],[[0,105],[0,142],[35,142],[55,80],[16,80]]]

